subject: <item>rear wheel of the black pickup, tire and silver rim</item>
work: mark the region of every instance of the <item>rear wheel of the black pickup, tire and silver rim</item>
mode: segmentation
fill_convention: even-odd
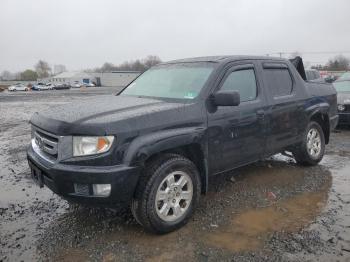
[[[317,122],[311,121],[304,133],[303,142],[293,151],[294,159],[300,165],[314,166],[322,160],[324,150],[323,130]]]

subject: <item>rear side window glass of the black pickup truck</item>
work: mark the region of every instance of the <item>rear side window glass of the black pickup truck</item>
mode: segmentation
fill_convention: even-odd
[[[290,95],[293,90],[293,80],[287,68],[264,69],[265,80],[274,97]]]

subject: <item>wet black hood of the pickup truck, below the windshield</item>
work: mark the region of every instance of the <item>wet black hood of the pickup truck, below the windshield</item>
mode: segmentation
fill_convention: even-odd
[[[153,98],[100,96],[35,113],[30,122],[56,135],[108,135],[181,125],[189,118],[188,107]]]

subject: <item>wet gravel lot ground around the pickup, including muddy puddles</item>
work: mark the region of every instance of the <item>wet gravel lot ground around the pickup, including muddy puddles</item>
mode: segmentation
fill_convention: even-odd
[[[30,179],[28,120],[118,89],[0,94],[0,261],[350,261],[350,130],[320,165],[276,155],[212,178],[193,219],[162,236],[129,210],[69,206]]]

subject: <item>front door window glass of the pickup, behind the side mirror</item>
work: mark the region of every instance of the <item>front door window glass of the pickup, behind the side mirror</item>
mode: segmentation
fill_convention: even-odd
[[[254,100],[257,96],[254,69],[244,69],[230,73],[220,90],[238,91],[241,102]]]

